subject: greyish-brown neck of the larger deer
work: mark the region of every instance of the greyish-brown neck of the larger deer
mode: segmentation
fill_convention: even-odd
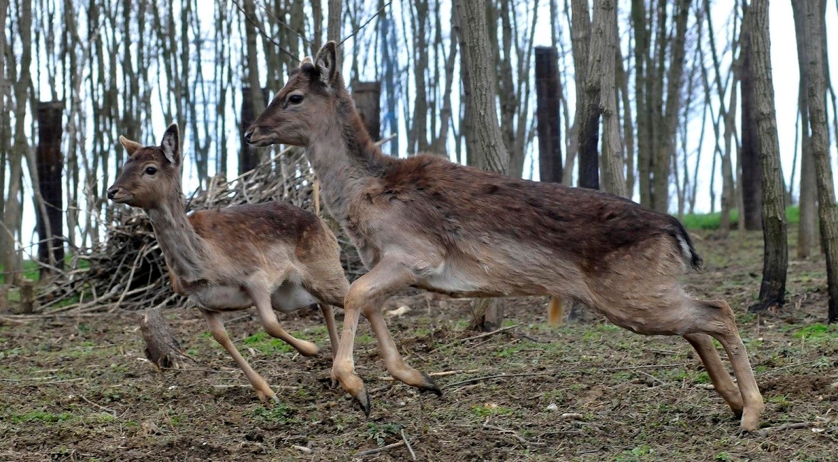
[[[320,180],[323,202],[340,223],[349,217],[351,198],[361,194],[370,177],[378,177],[391,162],[370,138],[348,97],[339,117],[323,126],[308,145],[308,160]]]

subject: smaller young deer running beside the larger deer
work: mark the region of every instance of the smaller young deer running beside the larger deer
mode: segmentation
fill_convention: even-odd
[[[199,305],[213,338],[230,352],[259,398],[277,400],[265,379],[235,349],[219,313],[256,305],[269,335],[309,357],[317,354],[318,347],[283,331],[274,310],[294,311],[319,303],[334,352],[338,334],[330,305],[343,305],[349,289],[338,240],[316,215],[281,202],[187,216],[178,139],[175,124],[168,127],[160,146],[143,147],[120,136],[129,157],[107,197],[148,213],[173,290]]]

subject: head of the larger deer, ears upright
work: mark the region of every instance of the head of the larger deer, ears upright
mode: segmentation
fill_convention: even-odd
[[[292,70],[287,84],[245,133],[254,146],[288,144],[307,146],[323,124],[334,121],[344,80],[337,64],[337,45],[323,45],[312,62],[308,56]]]

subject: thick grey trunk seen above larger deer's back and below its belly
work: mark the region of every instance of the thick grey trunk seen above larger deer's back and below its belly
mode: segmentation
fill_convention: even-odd
[[[510,155],[504,147],[495,110],[495,68],[489,49],[486,4],[484,0],[455,0],[454,5],[463,64],[468,72],[468,82],[463,83],[468,85],[466,97],[470,110],[466,115],[468,123],[463,127],[463,131],[467,149],[477,150],[469,154],[469,157],[479,168],[505,173],[509,167]],[[474,300],[474,329],[494,331],[500,326],[502,319],[503,312],[497,299]]]

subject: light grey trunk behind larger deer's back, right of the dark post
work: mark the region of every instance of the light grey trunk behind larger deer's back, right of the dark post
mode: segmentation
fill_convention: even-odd
[[[603,191],[627,197],[623,176],[623,140],[617,113],[617,4],[613,0],[595,0],[589,76],[598,76],[603,113]]]

